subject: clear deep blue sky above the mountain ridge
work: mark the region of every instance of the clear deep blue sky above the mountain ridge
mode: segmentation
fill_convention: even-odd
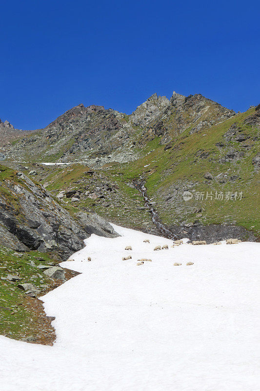
[[[259,1],[2,0],[0,50],[0,118],[18,129],[154,92],[260,102]]]

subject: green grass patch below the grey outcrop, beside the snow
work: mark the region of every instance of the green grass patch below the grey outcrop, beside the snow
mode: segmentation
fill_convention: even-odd
[[[56,262],[58,260],[46,253],[17,253],[0,247],[0,334],[14,339],[39,334],[39,314],[31,305],[33,299],[18,288],[18,284],[32,283],[42,294],[51,280],[37,265]],[[8,274],[18,275],[21,280],[10,282],[6,279]]]

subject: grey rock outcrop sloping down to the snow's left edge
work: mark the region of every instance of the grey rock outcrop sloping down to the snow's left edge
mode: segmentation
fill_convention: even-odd
[[[80,212],[73,216],[22,173],[0,166],[0,245],[17,251],[39,250],[68,257],[92,233],[118,236],[104,219]]]

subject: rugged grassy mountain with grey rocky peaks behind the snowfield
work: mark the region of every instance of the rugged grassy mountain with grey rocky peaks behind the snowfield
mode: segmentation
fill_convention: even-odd
[[[154,94],[131,115],[80,104],[8,145],[5,164],[126,227],[255,240],[259,130],[259,106],[236,114],[201,94]],[[60,195],[69,190],[76,201]]]

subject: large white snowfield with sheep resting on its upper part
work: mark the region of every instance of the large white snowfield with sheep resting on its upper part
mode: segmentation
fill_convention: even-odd
[[[53,347],[0,337],[0,390],[258,390],[260,244],[153,251],[171,241],[114,228],[86,239],[62,263],[82,274],[42,298]]]

